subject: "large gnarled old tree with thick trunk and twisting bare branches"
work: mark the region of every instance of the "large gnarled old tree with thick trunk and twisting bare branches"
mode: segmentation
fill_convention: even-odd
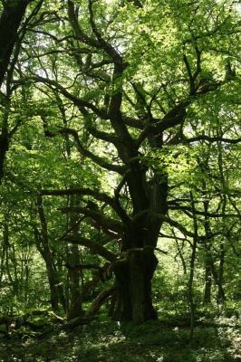
[[[30,33],[33,48],[24,47],[22,62],[33,65],[14,84],[34,83],[45,102],[54,99],[59,122],[51,125],[48,110],[37,112],[45,136],[71,138],[93,168],[109,172],[110,183],[108,190],[77,183],[42,195],[80,195],[63,212],[82,214],[105,242],[120,245],[113,252],[81,228],[65,235],[111,262],[114,318],[155,319],[151,280],[160,228],[169,223],[193,236],[168,214],[177,187],[169,183],[168,156],[198,141],[240,141],[225,122],[221,133],[206,132],[222,112],[236,119],[237,12],[228,1],[54,6],[56,23],[43,16]]]

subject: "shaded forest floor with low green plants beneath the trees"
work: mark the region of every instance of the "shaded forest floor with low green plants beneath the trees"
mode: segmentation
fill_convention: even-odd
[[[192,343],[187,323],[141,325],[94,320],[71,333],[60,330],[0,338],[0,362],[240,362],[240,318],[200,320]]]

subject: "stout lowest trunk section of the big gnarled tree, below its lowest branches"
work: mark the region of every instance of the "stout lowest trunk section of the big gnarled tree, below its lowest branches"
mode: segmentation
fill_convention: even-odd
[[[157,319],[151,298],[151,280],[158,260],[153,248],[134,248],[114,263],[116,308],[113,318],[143,322]]]

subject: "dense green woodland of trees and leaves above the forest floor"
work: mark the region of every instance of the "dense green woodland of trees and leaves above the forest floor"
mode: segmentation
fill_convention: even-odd
[[[240,6],[0,12],[0,333],[238,317]]]

